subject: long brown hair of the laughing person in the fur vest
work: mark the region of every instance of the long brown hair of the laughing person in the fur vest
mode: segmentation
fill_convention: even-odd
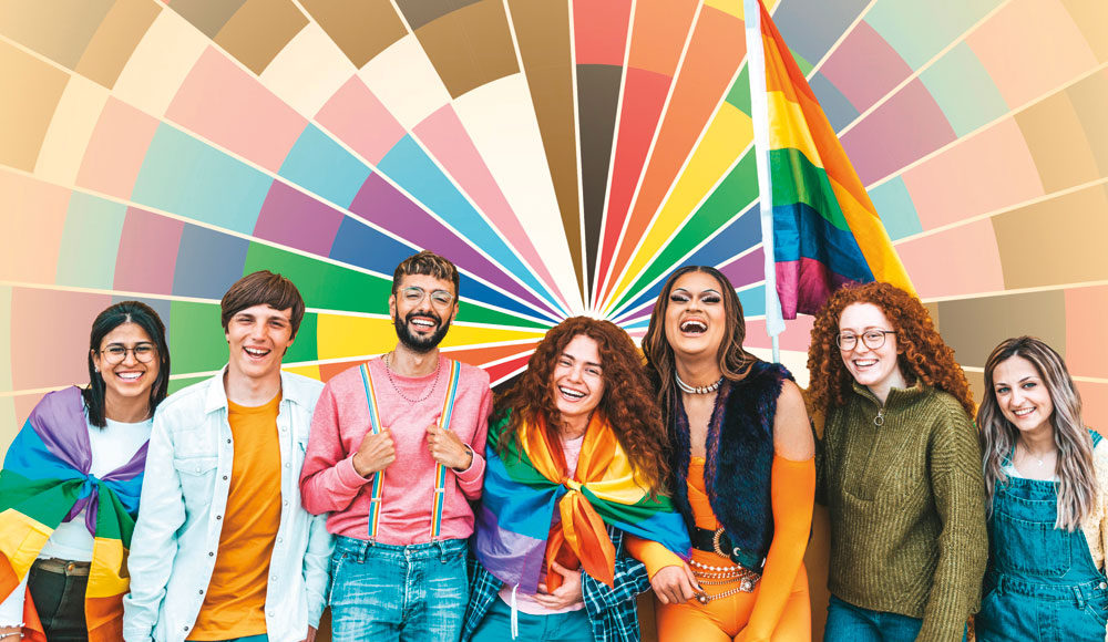
[[[716,353],[716,364],[724,379],[741,381],[750,372],[750,366],[758,361],[742,348],[742,341],[747,338],[747,324],[742,317],[742,303],[739,302],[731,281],[722,272],[708,266],[685,266],[675,270],[661,287],[658,300],[654,304],[654,312],[650,313],[650,324],[643,336],[646,375],[657,391],[658,404],[667,417],[673,416],[678,392],[677,380],[674,377],[677,358],[674,354],[674,346],[666,339],[666,311],[669,309],[669,293],[674,291],[674,283],[689,272],[704,272],[719,283],[719,293],[724,299],[725,327],[724,340]]]

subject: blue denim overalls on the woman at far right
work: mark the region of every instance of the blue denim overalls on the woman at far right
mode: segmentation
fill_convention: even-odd
[[[1105,576],[1081,529],[1056,529],[1056,517],[1053,482],[1009,477],[996,486],[977,640],[1105,640]]]

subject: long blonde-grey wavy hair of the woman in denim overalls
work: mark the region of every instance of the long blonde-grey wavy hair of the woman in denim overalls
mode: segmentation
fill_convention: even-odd
[[[984,452],[983,468],[988,509],[993,507],[993,493],[997,484],[1007,483],[1002,466],[1016,446],[1019,431],[1012,425],[996,403],[993,372],[1001,363],[1022,356],[1032,362],[1047,392],[1054,413],[1054,445],[1058,448],[1055,475],[1058,491],[1058,516],[1055,528],[1073,531],[1092,509],[1096,495],[1096,476],[1092,468],[1092,438],[1081,421],[1081,395],[1066,370],[1066,362],[1049,345],[1034,336],[1008,339],[993,349],[985,362],[985,394],[977,410],[977,426]]]

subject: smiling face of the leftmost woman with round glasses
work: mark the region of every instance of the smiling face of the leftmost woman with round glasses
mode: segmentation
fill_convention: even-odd
[[[135,356],[135,348],[140,354],[146,352],[151,356],[148,363],[143,363]],[[111,352],[124,349],[126,354],[117,363]],[[157,381],[158,355],[157,346],[146,331],[135,323],[121,323],[104,335],[100,350],[92,353],[92,362],[104,380],[104,405],[109,415],[116,404],[135,398],[148,398],[150,387]]]

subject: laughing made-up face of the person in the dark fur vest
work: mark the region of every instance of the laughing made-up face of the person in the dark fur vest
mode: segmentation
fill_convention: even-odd
[[[666,340],[678,359],[715,355],[727,331],[724,292],[711,275],[681,275],[669,292]]]

